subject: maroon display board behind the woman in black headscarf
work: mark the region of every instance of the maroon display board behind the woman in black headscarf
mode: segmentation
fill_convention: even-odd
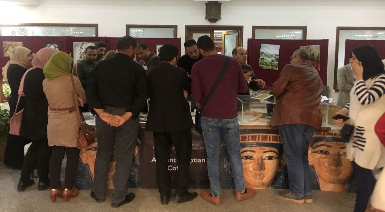
[[[345,63],[349,63],[349,55],[357,46],[370,45],[377,49],[382,59],[385,59],[385,40],[346,40],[345,41]]]

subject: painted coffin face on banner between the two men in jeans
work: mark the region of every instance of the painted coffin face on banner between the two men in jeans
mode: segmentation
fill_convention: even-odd
[[[246,187],[270,189],[285,162],[281,139],[277,134],[241,135],[241,157]]]

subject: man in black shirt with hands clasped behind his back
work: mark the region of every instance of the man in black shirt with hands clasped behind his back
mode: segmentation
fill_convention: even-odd
[[[87,82],[87,102],[97,113],[96,131],[98,151],[91,197],[104,202],[107,178],[115,145],[115,174],[111,207],[131,202],[135,194],[127,194],[127,181],[137,141],[139,114],[147,99],[146,73],[132,61],[137,42],[122,37],[113,58],[99,63]],[[113,74],[111,74],[113,73]]]

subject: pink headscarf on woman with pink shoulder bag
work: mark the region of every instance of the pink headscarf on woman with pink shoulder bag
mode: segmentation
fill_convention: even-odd
[[[17,94],[19,95],[22,95],[22,96],[25,96],[24,95],[24,92],[23,92],[23,89],[24,89],[24,79],[25,79],[25,76],[27,75],[27,73],[34,69],[34,68],[40,68],[40,69],[43,69],[44,68],[44,65],[45,63],[47,63],[47,61],[49,60],[49,58],[55,53],[57,52],[58,50],[54,50],[53,48],[49,48],[49,47],[45,47],[45,48],[42,48],[41,50],[39,50],[36,55],[34,55],[33,59],[32,59],[32,66],[33,68],[30,68],[28,69],[23,77],[22,77],[22,80],[20,81],[20,86],[19,86],[19,90],[17,92]],[[31,55],[32,56],[32,55]]]

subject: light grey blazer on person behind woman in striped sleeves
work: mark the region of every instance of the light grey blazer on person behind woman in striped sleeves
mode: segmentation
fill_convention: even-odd
[[[350,101],[350,90],[353,88],[353,70],[350,64],[342,66],[337,70],[337,82],[340,89],[337,105],[345,106]]]

